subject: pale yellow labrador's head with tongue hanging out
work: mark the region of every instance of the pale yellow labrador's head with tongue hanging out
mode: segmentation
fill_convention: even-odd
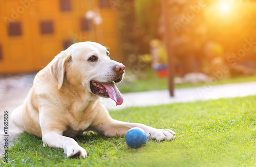
[[[125,66],[111,60],[109,55],[106,47],[99,43],[75,43],[53,59],[49,64],[50,73],[57,79],[58,89],[66,77],[67,82],[77,88],[83,87],[90,93],[111,98],[121,105],[122,94],[114,82],[122,80]]]

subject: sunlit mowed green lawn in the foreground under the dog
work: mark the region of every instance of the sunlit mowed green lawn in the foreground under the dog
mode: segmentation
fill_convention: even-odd
[[[129,148],[123,137],[88,133],[76,138],[86,159],[69,159],[23,133],[8,150],[6,166],[256,166],[256,96],[132,107],[113,118],[176,132],[174,141],[147,140]],[[3,160],[3,159],[2,159]]]

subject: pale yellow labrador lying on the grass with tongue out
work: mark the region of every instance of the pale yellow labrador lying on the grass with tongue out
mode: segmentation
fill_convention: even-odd
[[[35,76],[33,87],[11,119],[19,129],[42,138],[44,146],[60,148],[68,157],[87,157],[72,138],[84,131],[105,136],[125,135],[142,128],[148,138],[174,139],[175,132],[111,118],[101,98],[121,105],[123,97],[114,82],[120,82],[125,66],[109,57],[106,47],[80,42],[61,51]]]

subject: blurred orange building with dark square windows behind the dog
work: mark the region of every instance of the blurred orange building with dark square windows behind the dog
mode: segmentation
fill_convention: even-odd
[[[81,41],[110,47],[111,58],[122,62],[109,1],[1,0],[0,18],[0,74],[40,70]]]

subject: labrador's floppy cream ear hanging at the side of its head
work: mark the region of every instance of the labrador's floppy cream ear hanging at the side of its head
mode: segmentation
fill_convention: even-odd
[[[65,68],[68,60],[71,58],[71,54],[67,51],[61,51],[50,64],[50,73],[58,81],[58,89],[63,84],[65,76]]]

